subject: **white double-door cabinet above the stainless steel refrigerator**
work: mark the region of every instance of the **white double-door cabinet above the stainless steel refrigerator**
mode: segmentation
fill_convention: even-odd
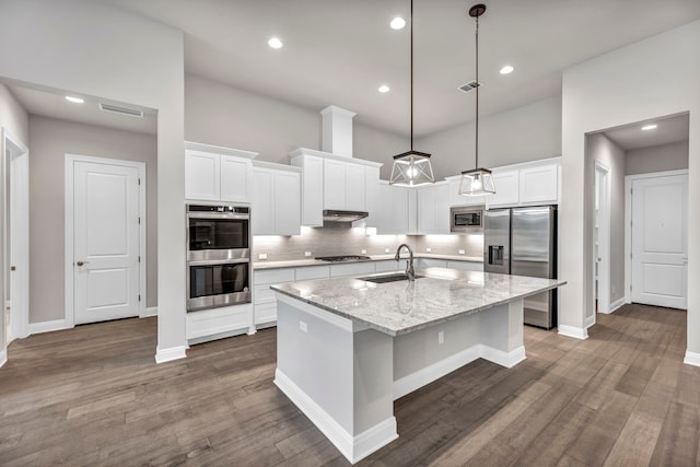
[[[495,195],[486,197],[487,208],[558,205],[560,172],[559,157],[495,168]]]

